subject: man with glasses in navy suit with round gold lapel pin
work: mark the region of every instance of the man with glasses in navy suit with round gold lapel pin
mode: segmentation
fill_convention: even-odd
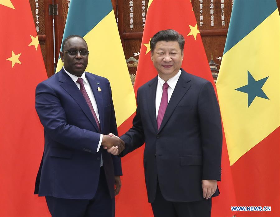
[[[89,52],[81,36],[68,36],[62,49],[63,68],[36,88],[45,145],[35,193],[46,197],[52,216],[114,216],[122,169],[112,154],[124,142],[108,136],[117,133],[110,84],[85,72]]]

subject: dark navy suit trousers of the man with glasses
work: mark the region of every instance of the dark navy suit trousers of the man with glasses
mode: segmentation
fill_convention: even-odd
[[[111,198],[103,166],[95,196],[91,200],[46,197],[52,217],[114,217],[115,198]]]

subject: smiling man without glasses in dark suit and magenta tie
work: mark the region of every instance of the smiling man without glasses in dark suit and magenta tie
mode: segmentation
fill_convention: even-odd
[[[150,47],[158,76],[138,89],[136,116],[120,137],[125,142],[120,155],[146,142],[145,180],[156,217],[210,217],[222,151],[214,89],[181,68],[184,37],[175,30],[156,33]]]

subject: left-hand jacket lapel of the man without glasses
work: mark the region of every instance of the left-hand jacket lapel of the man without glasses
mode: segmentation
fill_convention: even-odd
[[[158,78],[157,76],[152,79],[149,83],[149,88],[146,90],[147,98],[147,107],[149,115],[151,118],[152,125],[157,132],[157,122],[156,122],[156,87],[157,87]]]

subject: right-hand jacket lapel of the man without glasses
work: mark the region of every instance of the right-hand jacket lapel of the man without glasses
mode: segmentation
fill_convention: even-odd
[[[188,79],[187,73],[184,70],[182,70],[182,73],[177,81],[175,89],[167,105],[165,114],[161,122],[160,129],[158,130],[159,132],[169,120],[170,116],[172,115],[173,111],[175,110],[180,100],[183,98],[183,96],[187,93],[187,91],[191,87],[191,85],[188,83],[189,81],[190,79]]]

